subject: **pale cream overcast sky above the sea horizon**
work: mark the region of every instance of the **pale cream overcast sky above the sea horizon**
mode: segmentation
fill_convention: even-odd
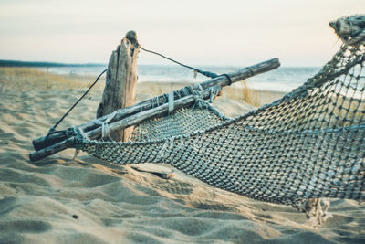
[[[0,0],[0,59],[108,63],[135,30],[186,64],[318,67],[341,43],[328,22],[364,13],[365,0]],[[138,62],[170,64],[142,51]]]

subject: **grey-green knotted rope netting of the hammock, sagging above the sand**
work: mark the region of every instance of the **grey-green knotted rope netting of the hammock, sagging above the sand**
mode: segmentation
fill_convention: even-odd
[[[74,146],[119,164],[167,163],[203,182],[266,202],[365,199],[364,47],[342,46],[282,99],[228,119],[203,101],[142,122],[130,142]]]

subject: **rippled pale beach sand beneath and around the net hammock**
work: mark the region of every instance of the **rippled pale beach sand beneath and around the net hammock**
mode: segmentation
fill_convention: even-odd
[[[331,199],[332,217],[314,228],[293,207],[238,196],[178,170],[170,179],[152,173],[170,172],[167,164],[121,166],[82,153],[73,160],[74,150],[31,163],[31,141],[82,92],[0,86],[0,243],[365,242],[365,206],[351,200]],[[93,119],[100,96],[88,95],[59,129]],[[216,104],[230,116],[254,108],[227,97]]]

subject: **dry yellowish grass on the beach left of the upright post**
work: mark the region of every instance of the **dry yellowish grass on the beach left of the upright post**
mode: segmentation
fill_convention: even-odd
[[[0,86],[11,90],[85,89],[94,80],[92,77],[57,75],[34,68],[0,68]],[[99,88],[100,83],[97,84]]]

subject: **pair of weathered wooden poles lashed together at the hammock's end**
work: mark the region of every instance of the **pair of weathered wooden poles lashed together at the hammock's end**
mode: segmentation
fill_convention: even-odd
[[[256,65],[228,73],[227,75],[234,83],[239,80],[245,80],[247,78],[250,78],[260,73],[264,73],[272,69],[277,69],[279,66],[280,63],[278,59],[273,58],[265,62],[258,63]],[[209,94],[209,90],[207,90],[208,88],[213,86],[224,87],[229,84],[230,80],[228,80],[226,76],[219,76],[212,80],[206,80],[202,82],[200,85],[203,88],[203,98],[204,99],[208,98],[209,96],[207,95]],[[175,99],[176,100],[174,101],[174,110],[178,110],[183,107],[189,106],[194,101],[193,96],[191,95],[179,99],[176,93],[175,93]],[[156,100],[159,101],[160,103],[163,102],[162,97],[158,97],[153,100],[151,99],[147,101],[142,101],[138,104],[117,111],[113,120],[111,120],[109,123],[110,132],[128,128],[131,125],[140,123],[144,120],[160,117],[166,114],[168,109],[168,104],[165,103],[157,108],[153,108],[153,104],[156,104]],[[99,118],[99,121],[103,122],[107,118],[108,116],[103,116]],[[100,126],[92,121],[81,124],[76,128],[83,130],[89,136],[90,139],[98,139],[101,136]],[[48,144],[48,146],[43,147],[32,154],[29,154],[29,158],[31,161],[37,161],[47,157],[48,155],[56,154],[62,150],[69,148],[71,146],[70,142],[72,142],[72,140],[74,139],[75,138],[73,136],[68,136],[68,133],[65,133],[65,131],[59,133],[53,133],[45,137],[38,138],[35,141],[33,141],[34,144],[36,142],[36,145],[38,146],[39,145],[45,146],[45,144]]]

